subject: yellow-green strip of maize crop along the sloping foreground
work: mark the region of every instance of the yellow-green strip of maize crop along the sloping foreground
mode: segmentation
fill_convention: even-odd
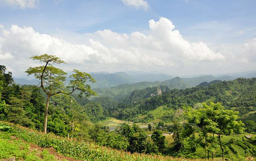
[[[79,160],[99,160],[99,161],[199,161],[204,159],[184,159],[184,158],[173,158],[169,156],[160,155],[147,155],[138,153],[129,153],[122,150],[116,150],[112,148],[106,148],[93,143],[85,141],[77,141],[76,139],[67,139],[53,134],[44,134],[32,129],[28,129],[22,126],[14,125],[7,122],[1,122],[0,124],[9,124],[11,128],[6,133],[9,136],[15,136],[20,140],[24,140],[28,143],[36,144],[44,148],[54,148],[58,153],[72,157]],[[8,136],[7,136],[8,137]],[[17,144],[17,143],[16,143]],[[0,146],[3,144],[0,144]],[[19,145],[19,144],[17,144]],[[5,146],[1,146],[2,150],[5,151]],[[28,148],[27,148],[28,149]],[[17,150],[17,149],[16,149]],[[28,152],[28,151],[27,151]],[[18,157],[26,157],[26,154],[20,154],[18,151],[12,152],[12,155],[17,153]],[[41,154],[44,156],[43,154]],[[6,154],[7,156],[7,154]],[[9,157],[8,155],[7,157]],[[40,158],[39,158],[40,159]],[[25,160],[25,159],[24,159]]]

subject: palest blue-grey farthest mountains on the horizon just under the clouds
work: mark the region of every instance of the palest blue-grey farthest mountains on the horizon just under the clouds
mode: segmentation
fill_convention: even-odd
[[[72,72],[67,72],[70,75]],[[108,72],[90,72],[92,77],[96,80],[96,83],[91,83],[92,88],[110,88],[121,84],[132,84],[138,82],[152,82],[159,81],[162,83],[154,83],[156,85],[166,85],[170,87],[173,85],[172,80],[174,76],[169,76],[159,72],[144,72],[144,71],[126,71],[117,73]],[[187,88],[199,85],[202,82],[210,82],[212,80],[234,80],[238,77],[251,78],[256,77],[256,71],[244,71],[239,73],[227,73],[227,74],[216,74],[202,75],[196,77],[181,78],[184,86],[180,88]],[[21,85],[37,85],[39,83],[36,79],[27,80],[25,78],[15,78],[14,81]],[[69,78],[67,78],[69,82]],[[175,85],[174,85],[175,86]],[[148,86],[147,86],[148,87]],[[172,87],[171,87],[172,88]]]

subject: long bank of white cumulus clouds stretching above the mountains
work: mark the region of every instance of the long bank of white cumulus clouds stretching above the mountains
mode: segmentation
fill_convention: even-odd
[[[16,66],[14,74],[15,70],[20,73],[29,66],[38,65],[29,57],[45,53],[66,61],[69,65],[65,70],[78,68],[110,72],[145,69],[173,71],[187,66],[228,64],[227,57],[237,60],[237,55],[230,54],[225,47],[213,50],[203,42],[185,40],[167,18],[160,18],[157,22],[149,20],[149,31],[146,33],[99,30],[83,34],[87,41],[81,43],[42,34],[31,27],[12,25],[6,30],[2,26],[0,31],[0,63],[11,68]],[[255,59],[256,39],[241,45],[241,48],[243,60]]]

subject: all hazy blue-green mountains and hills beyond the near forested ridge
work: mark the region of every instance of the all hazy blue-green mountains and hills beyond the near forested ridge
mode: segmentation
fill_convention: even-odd
[[[67,72],[70,75],[72,72]],[[144,72],[144,71],[126,71],[117,73],[108,72],[90,72],[96,83],[90,83],[93,90],[100,97],[109,97],[114,101],[123,101],[135,91],[136,93],[147,93],[144,97],[151,94],[157,95],[159,90],[166,89],[186,89],[197,85],[209,85],[213,80],[235,80],[238,77],[251,78],[256,75],[256,71],[245,71],[240,73],[230,73],[230,75],[203,75],[192,78],[173,77],[163,73]],[[67,82],[70,78],[67,77]],[[20,85],[38,85],[36,79],[26,80],[24,78],[14,78],[14,81]],[[146,89],[147,88],[147,89]],[[164,92],[161,90],[161,92]],[[128,99],[129,100],[129,99]]]

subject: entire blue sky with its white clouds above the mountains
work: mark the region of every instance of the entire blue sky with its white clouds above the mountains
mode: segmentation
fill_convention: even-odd
[[[0,0],[0,64],[172,76],[256,70],[256,1]]]

